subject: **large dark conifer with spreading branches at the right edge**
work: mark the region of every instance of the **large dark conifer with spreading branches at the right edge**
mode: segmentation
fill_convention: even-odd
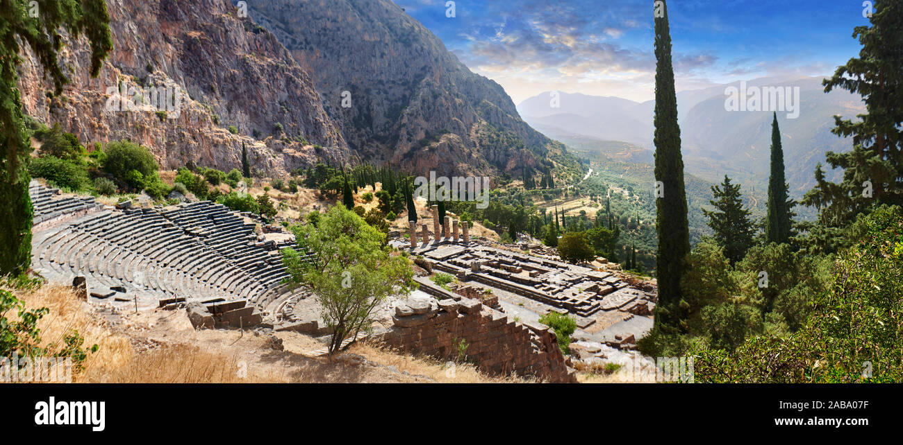
[[[861,95],[866,114],[858,122],[834,116],[832,132],[852,138],[853,150],[829,151],[825,158],[832,168],[842,168],[840,184],[824,179],[816,168],[817,186],[803,203],[817,207],[819,222],[842,227],[855,220],[872,204],[903,205],[903,3],[876,0],[870,26],[857,26],[852,33],[862,49],[824,79],[824,92],[842,88]]]

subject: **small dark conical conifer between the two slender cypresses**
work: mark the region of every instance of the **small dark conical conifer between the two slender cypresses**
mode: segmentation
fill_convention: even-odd
[[[749,210],[743,208],[740,184],[731,184],[731,178],[725,175],[721,186],[712,186],[712,195],[715,199],[709,203],[715,209],[703,209],[703,214],[709,218],[709,227],[715,232],[715,241],[724,248],[724,256],[734,264],[752,247],[755,227],[749,220]]]

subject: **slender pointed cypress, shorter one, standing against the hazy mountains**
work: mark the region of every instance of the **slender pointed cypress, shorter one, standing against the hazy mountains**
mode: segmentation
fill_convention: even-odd
[[[768,213],[765,215],[765,240],[778,244],[790,241],[790,205],[784,177],[784,149],[777,113],[771,123],[771,176],[768,177]]]

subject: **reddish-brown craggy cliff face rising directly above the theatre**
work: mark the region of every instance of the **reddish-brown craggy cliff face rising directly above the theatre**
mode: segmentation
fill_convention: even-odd
[[[108,0],[107,8],[115,50],[98,78],[88,76],[86,41],[67,42],[61,65],[70,85],[52,97],[37,60],[25,54],[20,67],[25,114],[61,123],[86,145],[139,142],[164,168],[190,161],[240,168],[242,141],[252,168],[271,174],[317,158],[349,159],[310,74],[273,34],[238,17],[228,0]],[[159,87],[169,88],[168,109],[154,106],[160,102],[153,95],[152,104],[140,98]],[[126,104],[139,109],[122,111],[129,107],[121,106],[121,92]],[[233,125],[237,134],[228,130]]]

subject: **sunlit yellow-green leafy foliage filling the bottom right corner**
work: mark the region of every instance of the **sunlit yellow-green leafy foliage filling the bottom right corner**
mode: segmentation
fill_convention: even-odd
[[[762,335],[736,350],[697,345],[695,379],[712,383],[858,383],[903,379],[903,212],[881,206],[833,263],[814,311],[786,337]]]

